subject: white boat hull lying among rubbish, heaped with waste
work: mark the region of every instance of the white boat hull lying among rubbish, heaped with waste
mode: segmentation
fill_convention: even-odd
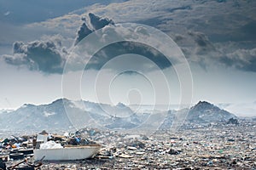
[[[90,158],[101,149],[100,144],[68,145],[57,149],[36,149],[34,158],[39,161],[74,161]]]

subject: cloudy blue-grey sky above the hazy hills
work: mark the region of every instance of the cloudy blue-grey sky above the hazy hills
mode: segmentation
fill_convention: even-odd
[[[253,0],[0,0],[0,109],[255,104],[255,11]]]

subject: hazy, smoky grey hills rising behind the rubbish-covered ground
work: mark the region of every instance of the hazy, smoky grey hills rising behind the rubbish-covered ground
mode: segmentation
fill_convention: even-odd
[[[227,122],[235,115],[219,109],[207,101],[200,101],[190,109],[182,111],[167,111],[166,120],[162,127],[172,126],[175,116],[188,111],[186,122],[210,123]],[[127,105],[97,104],[90,101],[72,101],[69,99],[56,99],[47,105],[22,105],[15,111],[3,111],[0,116],[0,128],[6,130],[42,130],[79,127],[105,127],[110,129],[131,129],[140,126],[150,113],[136,113]],[[163,111],[154,112],[154,122],[163,116]],[[152,122],[153,123],[153,122]],[[150,124],[148,124],[150,127]]]

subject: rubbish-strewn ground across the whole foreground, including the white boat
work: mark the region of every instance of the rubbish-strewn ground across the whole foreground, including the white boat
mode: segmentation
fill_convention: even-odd
[[[256,122],[239,120],[239,126],[190,123],[177,133],[160,130],[150,136],[93,128],[44,132],[38,140],[11,136],[0,139],[0,169],[253,169],[255,132]]]

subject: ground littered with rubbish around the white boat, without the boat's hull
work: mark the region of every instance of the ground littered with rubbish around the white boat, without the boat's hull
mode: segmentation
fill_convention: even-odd
[[[240,121],[239,124],[223,123],[201,127],[189,124],[189,128],[181,128],[176,133],[159,130],[148,135],[94,128],[84,128],[76,133],[61,135],[49,133],[41,133],[41,135],[38,135],[39,138],[33,145],[35,148],[38,147],[38,150],[40,147],[42,150],[47,150],[49,146],[65,148],[68,144],[82,146],[95,143],[101,144],[102,149],[91,159],[67,162],[42,160],[43,164],[40,167],[33,168],[256,169],[256,122]],[[27,140],[31,141],[34,137],[31,136]],[[7,144],[3,146],[2,153],[6,150],[6,146]],[[19,163],[19,161],[3,162],[6,162],[6,167]],[[33,162],[33,165],[38,164]]]

